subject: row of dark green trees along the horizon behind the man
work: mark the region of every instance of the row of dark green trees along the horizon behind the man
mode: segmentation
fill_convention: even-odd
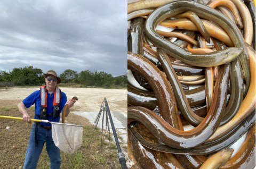
[[[106,72],[84,70],[79,73],[67,69],[59,77],[62,83],[77,83],[96,87],[127,87],[127,74],[113,77]],[[36,86],[45,83],[43,71],[33,66],[15,67],[10,73],[0,71],[0,82],[14,82],[17,86]]]

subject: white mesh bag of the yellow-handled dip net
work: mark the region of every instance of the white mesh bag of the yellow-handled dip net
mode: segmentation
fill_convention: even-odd
[[[52,138],[60,150],[74,154],[83,143],[83,127],[52,123]]]

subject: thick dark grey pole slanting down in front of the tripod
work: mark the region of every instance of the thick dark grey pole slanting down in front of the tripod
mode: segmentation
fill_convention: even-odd
[[[116,147],[117,147],[117,151],[118,151],[119,162],[122,166],[122,169],[127,169],[126,160],[125,160],[124,154],[122,153],[122,150],[121,150],[118,138],[117,138],[116,129],[115,129],[115,126],[114,126],[114,123],[113,123],[113,120],[112,120],[112,116],[110,114],[110,110],[109,110],[109,107],[108,107],[108,102],[107,102],[106,98],[104,98],[104,100],[105,100],[105,105],[106,105],[107,111],[108,111],[109,121],[110,121],[110,124],[112,126],[114,138],[115,138],[115,141],[116,141]]]

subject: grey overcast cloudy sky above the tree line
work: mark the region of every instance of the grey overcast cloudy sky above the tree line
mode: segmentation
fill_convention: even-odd
[[[0,70],[127,73],[127,1],[0,1]]]

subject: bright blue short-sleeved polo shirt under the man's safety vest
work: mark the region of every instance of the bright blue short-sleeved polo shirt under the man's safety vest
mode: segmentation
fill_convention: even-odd
[[[37,90],[33,92],[31,95],[29,95],[27,98],[25,98],[22,103],[26,106],[26,108],[29,108],[33,104],[35,104],[35,110],[36,114],[40,115],[40,107],[41,107],[41,97],[40,97],[41,90]],[[61,91],[62,98],[60,99],[60,113],[67,103],[67,96],[64,92]],[[53,100],[54,100],[54,92],[50,95],[49,92],[47,92],[47,113],[53,113]],[[37,116],[34,116],[34,119],[37,119]],[[39,118],[38,118],[39,119]],[[47,120],[51,120],[52,116],[47,117]],[[52,122],[59,122],[60,116],[58,118],[55,118],[52,120]],[[40,124],[51,126],[51,123],[43,123],[39,122]]]

